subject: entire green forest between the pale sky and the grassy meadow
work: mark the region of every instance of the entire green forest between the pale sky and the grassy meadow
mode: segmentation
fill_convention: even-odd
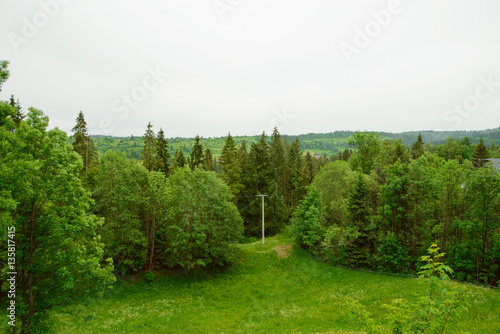
[[[82,112],[70,137],[48,121],[0,102],[2,238],[15,245],[0,263],[17,273],[23,333],[117,275],[234,263],[234,244],[260,236],[260,195],[266,234],[287,230],[331,263],[416,273],[437,242],[452,277],[500,284],[500,129],[168,139],[148,124],[107,138]]]

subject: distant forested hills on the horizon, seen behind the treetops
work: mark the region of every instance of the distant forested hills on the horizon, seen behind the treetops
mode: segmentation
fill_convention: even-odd
[[[286,136],[291,143],[295,137],[300,140],[301,148],[304,151],[318,153],[320,155],[331,156],[338,154],[339,151],[349,147],[348,139],[355,131],[335,131],[330,133],[308,133],[298,136]],[[455,140],[461,140],[468,137],[471,143],[479,143],[479,138],[483,138],[485,144],[489,147],[492,142],[500,144],[500,127],[491,130],[481,131],[409,131],[401,133],[380,132],[381,139],[401,139],[403,143],[409,147],[417,140],[418,134],[422,134],[422,139],[425,143],[432,145],[444,144],[448,138],[452,137]],[[168,136],[168,133],[167,133]],[[143,146],[143,137],[106,137],[94,135],[92,136],[99,152],[99,155],[106,151],[118,150],[125,152],[128,156],[139,159],[140,152]],[[235,136],[235,143],[239,145],[243,140],[247,143],[257,142],[260,135],[256,136]],[[218,156],[224,146],[225,137],[209,137],[201,138],[200,143],[204,147],[210,147],[212,153]],[[194,143],[193,138],[168,138],[169,151],[173,154],[178,148],[183,149],[185,154],[192,151]]]

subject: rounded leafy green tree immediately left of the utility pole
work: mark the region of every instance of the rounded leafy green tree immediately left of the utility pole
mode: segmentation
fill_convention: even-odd
[[[167,182],[168,210],[158,231],[165,264],[187,273],[234,262],[231,243],[241,237],[243,221],[229,202],[227,185],[212,172],[187,167],[177,169]]]

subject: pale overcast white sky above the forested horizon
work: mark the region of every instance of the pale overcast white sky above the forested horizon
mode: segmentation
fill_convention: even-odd
[[[11,94],[71,133],[500,126],[498,0],[0,0]]]

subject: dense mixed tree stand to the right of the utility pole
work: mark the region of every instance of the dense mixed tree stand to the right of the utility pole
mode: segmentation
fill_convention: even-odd
[[[369,132],[350,143],[356,152],[324,165],[295,210],[299,245],[335,264],[415,274],[437,243],[454,278],[500,284],[500,173],[482,140],[441,152],[421,136],[411,148]]]

